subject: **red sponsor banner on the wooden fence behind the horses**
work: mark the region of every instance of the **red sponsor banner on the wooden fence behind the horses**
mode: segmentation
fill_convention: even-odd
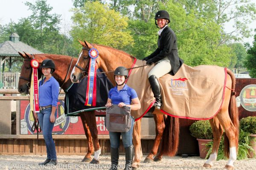
[[[64,102],[59,100],[57,104],[57,118],[52,130],[52,134],[72,134],[83,135],[84,128],[79,116],[65,116],[64,114]],[[102,112],[102,113],[101,113]],[[95,111],[97,115],[105,115],[105,111]],[[104,125],[105,117],[96,117],[98,134],[108,134],[108,130]],[[31,131],[31,127],[34,123],[32,111],[30,110],[29,101],[20,101],[20,134],[36,134]],[[41,132],[42,133],[42,132]],[[39,134],[41,134],[39,133]]]

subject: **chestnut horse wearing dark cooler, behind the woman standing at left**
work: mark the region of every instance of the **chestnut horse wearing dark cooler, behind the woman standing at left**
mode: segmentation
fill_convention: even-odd
[[[55,65],[57,65],[56,70],[52,74],[52,76],[58,81],[59,85],[62,86],[62,89],[65,90],[70,87],[72,82],[70,80],[71,71],[69,71],[69,67],[71,69],[74,67],[74,65],[77,62],[77,58],[73,58],[72,60],[72,57],[55,54],[33,54],[33,56],[26,53],[24,55],[20,52],[19,54],[21,57],[24,58],[18,84],[18,91],[20,92],[20,94],[29,93],[29,86],[27,84],[31,81],[32,67],[30,66],[30,61],[31,59],[33,59],[33,56],[36,60],[38,60],[39,63],[41,63],[44,59],[52,59],[55,62]],[[67,78],[65,79],[66,74]],[[41,70],[38,69],[38,77],[41,77],[40,75],[42,75],[42,73]],[[91,158],[91,155],[94,151],[98,151],[98,154],[100,154],[95,112],[81,112],[79,113],[79,115],[81,117],[81,121],[84,127],[84,132],[88,144],[87,154],[84,156],[82,162],[90,162],[93,164],[99,163],[98,160]]]

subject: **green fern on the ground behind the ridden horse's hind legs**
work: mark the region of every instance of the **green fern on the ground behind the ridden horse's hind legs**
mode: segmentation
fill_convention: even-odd
[[[242,129],[240,129],[237,160],[247,159],[247,155],[249,153],[248,150],[254,152],[253,148],[249,145],[251,140],[253,139],[250,138],[250,133],[244,132]],[[209,150],[207,152],[205,159],[209,158],[212,152],[212,145],[213,141],[208,142],[206,144],[206,146],[209,147]],[[221,137],[221,142],[218,149],[217,161],[220,159],[227,159],[227,157],[224,156],[224,136]]]

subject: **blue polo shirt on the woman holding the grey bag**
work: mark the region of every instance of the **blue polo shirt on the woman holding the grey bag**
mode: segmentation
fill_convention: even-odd
[[[136,91],[126,84],[121,90],[118,91],[116,86],[111,88],[108,93],[108,98],[111,99],[112,103],[115,105],[119,104],[120,102],[125,103],[125,105],[130,105],[131,99],[135,99],[137,97]]]

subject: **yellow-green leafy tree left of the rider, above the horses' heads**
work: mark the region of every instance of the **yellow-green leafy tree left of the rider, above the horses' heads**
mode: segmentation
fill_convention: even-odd
[[[108,45],[125,49],[133,40],[128,31],[128,18],[119,12],[109,9],[99,2],[87,2],[82,8],[74,8],[72,17],[74,26],[71,35],[76,48],[80,49],[77,40]]]

